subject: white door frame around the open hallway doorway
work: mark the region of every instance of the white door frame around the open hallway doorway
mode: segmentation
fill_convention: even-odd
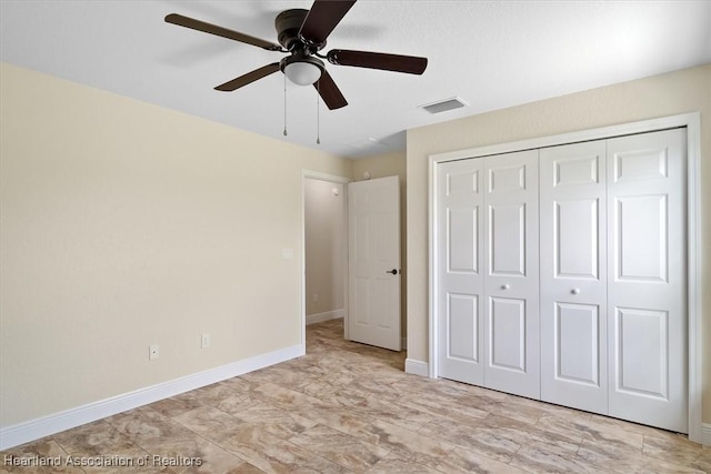
[[[346,184],[350,183],[350,178],[336,174],[322,173],[320,171],[301,170],[301,343],[304,351],[307,345],[307,180],[327,181],[330,183],[343,184],[343,239],[346,239],[346,259],[343,262],[343,325],[344,337],[348,339],[348,192]]]

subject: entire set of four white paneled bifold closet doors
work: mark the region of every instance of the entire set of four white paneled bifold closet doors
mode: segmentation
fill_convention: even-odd
[[[687,433],[685,142],[439,163],[440,376]]]

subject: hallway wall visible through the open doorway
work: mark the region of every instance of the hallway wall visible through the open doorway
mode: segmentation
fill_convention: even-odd
[[[304,182],[307,315],[344,310],[348,259],[344,189],[343,184],[330,181]]]

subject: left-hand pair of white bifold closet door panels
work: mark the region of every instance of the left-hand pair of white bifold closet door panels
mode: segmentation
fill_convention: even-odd
[[[440,374],[539,397],[538,152],[440,167]]]

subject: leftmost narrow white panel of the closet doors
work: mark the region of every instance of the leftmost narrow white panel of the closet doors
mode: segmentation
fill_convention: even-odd
[[[438,164],[439,374],[484,384],[483,160]]]

